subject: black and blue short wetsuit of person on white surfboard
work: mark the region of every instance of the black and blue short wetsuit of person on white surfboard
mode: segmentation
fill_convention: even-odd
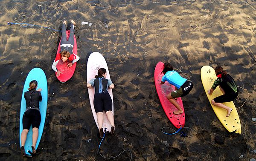
[[[110,79],[104,77],[91,79],[90,83],[94,86],[95,93],[93,99],[93,105],[95,112],[112,111],[112,99],[108,93],[108,87],[113,84]]]

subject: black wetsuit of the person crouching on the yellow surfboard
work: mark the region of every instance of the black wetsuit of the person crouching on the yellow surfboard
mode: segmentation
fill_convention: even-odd
[[[238,96],[239,91],[235,80],[229,74],[222,75],[221,78],[217,78],[212,85],[212,89],[216,89],[217,86],[220,86],[225,92],[224,95],[213,99],[217,103],[234,101]]]

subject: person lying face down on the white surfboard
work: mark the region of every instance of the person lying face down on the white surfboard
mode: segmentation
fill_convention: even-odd
[[[114,84],[110,79],[106,79],[106,76],[107,70],[105,68],[100,68],[98,70],[98,75],[95,75],[95,78],[91,79],[87,83],[87,88],[93,88],[94,86],[95,89],[93,105],[97,114],[100,138],[103,138],[103,110],[106,112],[108,121],[111,124],[111,135],[115,134],[115,122],[112,114],[112,99],[108,93],[108,87],[113,89]]]

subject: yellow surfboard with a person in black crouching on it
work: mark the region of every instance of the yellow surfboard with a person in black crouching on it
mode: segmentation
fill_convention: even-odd
[[[204,86],[204,91],[211,105],[212,105],[211,101],[213,98],[223,95],[219,87],[217,87],[214,90],[212,95],[209,95],[207,92],[212,87],[212,84],[216,78],[217,76],[215,75],[215,70],[212,67],[210,66],[202,67],[201,80]],[[229,117],[226,117],[227,110],[222,109],[220,107],[212,105],[213,111],[215,112],[218,119],[221,121],[221,124],[227,129],[227,131],[231,133],[241,134],[241,124],[240,124],[240,119],[239,119],[239,115],[237,113],[235,104],[233,103],[233,101],[226,102],[224,104],[233,109]]]

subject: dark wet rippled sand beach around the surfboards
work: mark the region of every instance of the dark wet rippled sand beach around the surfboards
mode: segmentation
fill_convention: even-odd
[[[75,20],[80,60],[66,83],[55,76],[63,20]],[[82,22],[91,26],[81,25]],[[86,88],[91,52],[105,57],[111,74],[116,135],[107,135],[101,153],[131,150],[136,161],[248,161],[256,158],[256,2],[255,0],[0,0],[0,160],[104,160]],[[154,68],[170,62],[194,88],[182,98],[183,143],[165,135],[175,127],[166,117],[154,85]],[[204,92],[200,70],[223,68],[248,90],[238,109],[241,135],[232,136],[216,117]],[[33,158],[20,155],[20,100],[29,71],[44,70],[48,106],[44,133]],[[239,89],[243,103],[247,92]],[[236,107],[241,106],[235,101]],[[177,129],[176,129],[177,130]],[[215,137],[223,139],[217,144]],[[125,138],[125,139],[124,139]],[[177,135],[177,138],[179,136]],[[87,140],[91,139],[89,143]],[[166,146],[164,141],[167,141]],[[243,158],[239,156],[243,155]],[[128,161],[129,152],[115,160]]]

